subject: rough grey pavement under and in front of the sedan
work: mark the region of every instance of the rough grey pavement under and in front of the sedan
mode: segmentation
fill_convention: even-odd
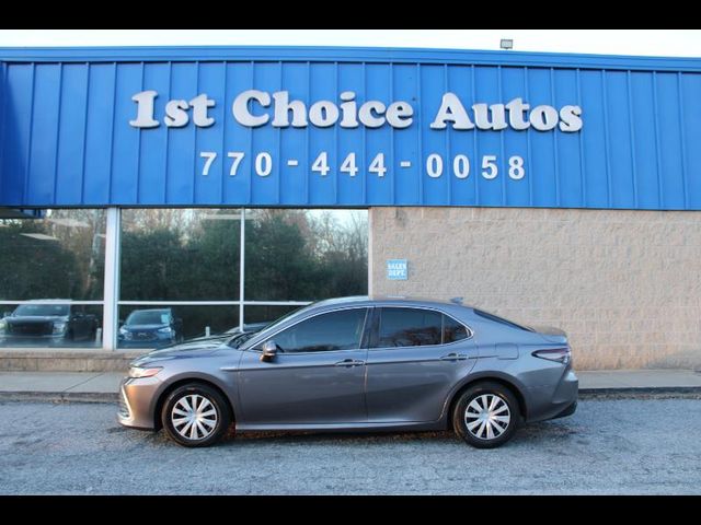
[[[0,402],[2,494],[701,494],[701,400],[588,399],[480,451],[451,432],[183,448],[108,404]]]

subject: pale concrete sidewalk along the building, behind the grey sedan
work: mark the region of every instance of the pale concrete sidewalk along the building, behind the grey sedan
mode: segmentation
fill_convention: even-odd
[[[579,395],[699,394],[692,370],[578,371]],[[116,401],[123,372],[0,372],[0,400]]]

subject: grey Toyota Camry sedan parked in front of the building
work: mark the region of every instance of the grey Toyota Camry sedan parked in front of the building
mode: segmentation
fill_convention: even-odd
[[[495,447],[522,423],[577,406],[566,335],[461,304],[344,298],[257,332],[185,342],[135,360],[118,420],[185,446],[262,430],[452,428]]]

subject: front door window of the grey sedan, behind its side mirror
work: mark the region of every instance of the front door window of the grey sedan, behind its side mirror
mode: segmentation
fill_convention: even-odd
[[[342,310],[320,314],[273,336],[284,352],[324,352],[357,350],[367,308]]]

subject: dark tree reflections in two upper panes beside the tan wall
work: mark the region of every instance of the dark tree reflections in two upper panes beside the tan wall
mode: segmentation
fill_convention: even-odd
[[[122,235],[124,300],[239,299],[238,210],[129,210]],[[320,217],[252,210],[245,298],[304,301],[367,292],[365,212]],[[148,215],[154,214],[154,218]]]

